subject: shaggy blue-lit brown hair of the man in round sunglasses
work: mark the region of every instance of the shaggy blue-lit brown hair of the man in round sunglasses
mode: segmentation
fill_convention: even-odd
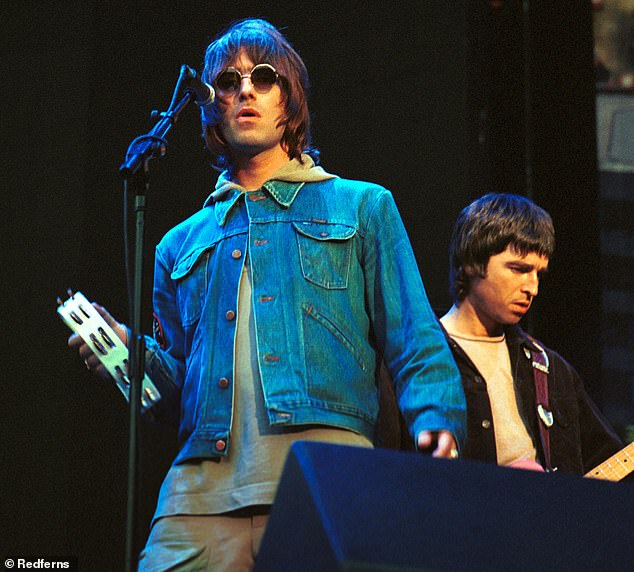
[[[284,125],[282,147],[291,159],[301,161],[302,153],[310,155],[315,163],[319,151],[311,144],[308,91],[308,70],[302,58],[282,33],[266,20],[248,18],[232,23],[209,44],[205,53],[203,80],[213,85],[218,74],[235,62],[244,52],[254,65],[268,63],[280,75]],[[208,122],[203,121],[203,137],[207,148],[215,156],[215,166],[231,169],[233,161],[219,128],[220,109],[214,105]]]

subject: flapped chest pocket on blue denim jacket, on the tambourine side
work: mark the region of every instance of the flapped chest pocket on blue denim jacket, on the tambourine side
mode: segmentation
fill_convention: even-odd
[[[177,300],[183,327],[200,319],[207,286],[209,285],[209,257],[215,245],[197,248],[177,260],[171,273],[176,284]]]

